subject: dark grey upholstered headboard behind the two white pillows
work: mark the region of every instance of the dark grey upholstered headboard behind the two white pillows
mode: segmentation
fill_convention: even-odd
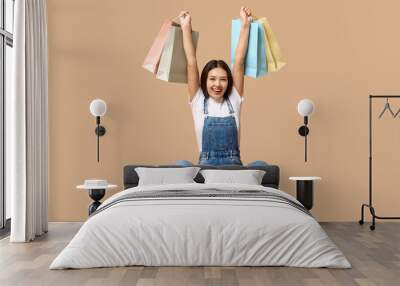
[[[201,169],[221,169],[221,170],[264,170],[266,173],[262,180],[262,185],[265,187],[271,187],[278,189],[279,187],[279,167],[276,165],[268,165],[268,166],[202,166],[195,165],[196,167],[200,167]],[[177,165],[160,165],[160,166],[150,166],[150,165],[127,165],[124,167],[124,189],[136,187],[139,183],[139,177],[135,172],[136,167],[148,167],[148,168],[183,168]],[[204,183],[203,176],[198,173],[194,180],[197,183]]]

